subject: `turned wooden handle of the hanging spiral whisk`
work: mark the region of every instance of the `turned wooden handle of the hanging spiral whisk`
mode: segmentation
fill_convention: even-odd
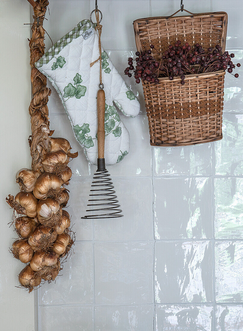
[[[104,159],[105,157],[105,91],[99,90],[97,93],[97,116],[98,116],[98,158]]]

